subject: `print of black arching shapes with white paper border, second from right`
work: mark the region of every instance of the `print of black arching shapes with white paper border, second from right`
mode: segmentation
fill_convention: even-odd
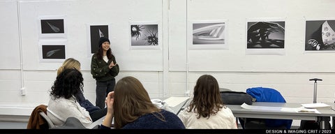
[[[284,55],[285,18],[246,20],[246,54]]]

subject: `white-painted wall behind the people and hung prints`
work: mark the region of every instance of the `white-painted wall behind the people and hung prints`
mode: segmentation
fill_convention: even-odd
[[[19,1],[20,5],[16,0],[0,1],[2,107],[47,104],[61,63],[39,61],[37,22],[41,15],[66,15],[66,57],[82,63],[84,95],[93,103],[96,85],[89,73],[87,24],[110,24],[111,46],[121,69],[117,80],[137,77],[152,98],[184,96],[200,75],[211,74],[220,87],[236,91],[272,87],[292,103],[312,103],[313,82],[308,80],[318,77],[323,79],[318,82],[318,102],[334,103],[334,52],[304,52],[305,18],[334,19],[332,0]],[[272,17],[285,18],[285,54],[246,55],[246,20]],[[187,34],[194,20],[228,20],[229,49],[188,50]],[[158,22],[161,48],[129,50],[131,21]],[[20,94],[22,87],[25,96]]]

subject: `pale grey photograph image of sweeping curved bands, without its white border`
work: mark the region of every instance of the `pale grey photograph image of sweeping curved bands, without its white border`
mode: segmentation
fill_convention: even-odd
[[[193,24],[193,45],[225,44],[225,23]]]

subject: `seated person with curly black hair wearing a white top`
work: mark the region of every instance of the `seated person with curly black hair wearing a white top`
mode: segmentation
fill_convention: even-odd
[[[75,117],[85,126],[92,124],[89,112],[76,101],[75,94],[84,87],[82,73],[68,68],[57,75],[50,91],[47,117],[55,126],[61,126],[68,117]]]

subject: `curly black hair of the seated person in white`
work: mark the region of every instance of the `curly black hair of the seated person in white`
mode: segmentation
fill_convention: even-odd
[[[50,96],[54,96],[54,98],[71,98],[79,91],[82,91],[84,87],[83,80],[84,78],[82,78],[82,73],[79,70],[75,68],[65,69],[54,81]]]

